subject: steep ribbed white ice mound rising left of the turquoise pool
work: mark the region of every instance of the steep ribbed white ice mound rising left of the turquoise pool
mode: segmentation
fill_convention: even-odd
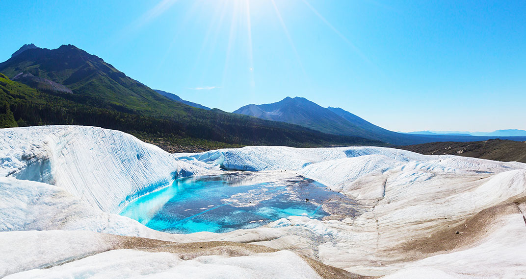
[[[134,136],[97,127],[8,128],[0,135],[0,176],[56,185],[108,212],[201,170]]]

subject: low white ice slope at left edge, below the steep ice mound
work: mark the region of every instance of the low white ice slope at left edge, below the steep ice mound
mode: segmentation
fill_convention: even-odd
[[[174,240],[171,234],[92,207],[62,188],[0,177],[0,232],[31,230],[83,230]]]

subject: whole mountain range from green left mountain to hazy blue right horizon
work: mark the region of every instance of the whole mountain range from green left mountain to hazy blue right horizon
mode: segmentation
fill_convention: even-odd
[[[494,137],[392,132],[343,109],[322,108],[299,97],[227,113],[152,90],[73,45],[57,49],[24,45],[0,63],[0,73],[0,127],[100,126],[134,134],[173,152],[243,145],[408,145]],[[526,140],[526,136],[513,139]]]

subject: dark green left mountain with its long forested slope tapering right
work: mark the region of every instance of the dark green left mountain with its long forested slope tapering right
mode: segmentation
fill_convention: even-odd
[[[217,109],[197,109],[160,95],[72,45],[25,49],[0,63],[0,72],[5,73],[0,77],[0,127],[99,126],[131,133],[170,152],[244,145],[383,145]],[[15,77],[52,81],[72,93],[10,80]]]

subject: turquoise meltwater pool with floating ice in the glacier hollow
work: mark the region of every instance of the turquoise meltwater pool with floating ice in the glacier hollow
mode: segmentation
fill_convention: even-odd
[[[177,179],[131,201],[120,214],[164,232],[227,232],[289,216],[321,219],[329,215],[321,205],[339,195],[300,176],[264,183],[250,178],[227,173]]]

